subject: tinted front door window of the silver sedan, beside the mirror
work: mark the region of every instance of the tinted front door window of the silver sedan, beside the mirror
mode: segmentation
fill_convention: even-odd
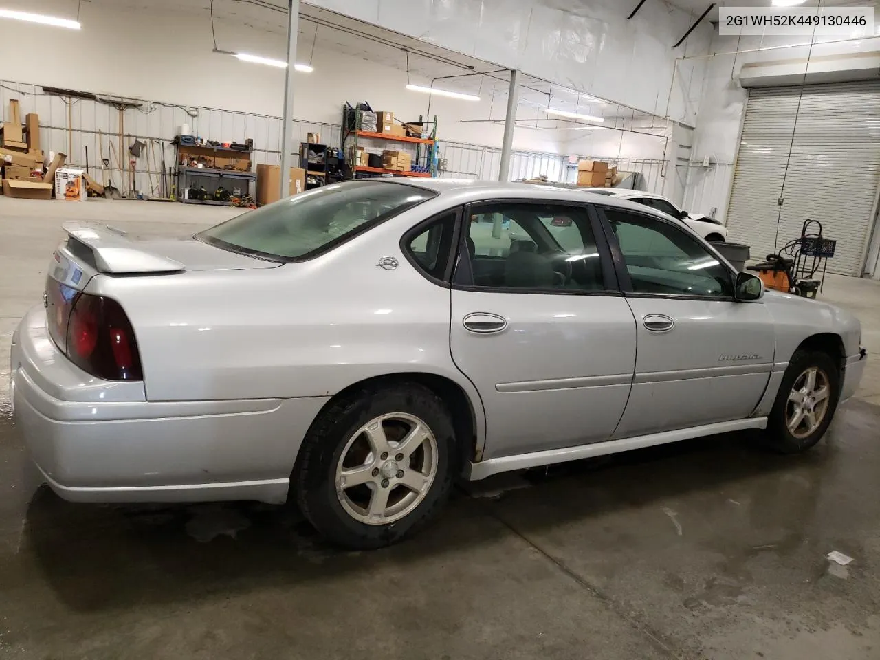
[[[637,293],[732,297],[727,266],[677,227],[605,209]]]

